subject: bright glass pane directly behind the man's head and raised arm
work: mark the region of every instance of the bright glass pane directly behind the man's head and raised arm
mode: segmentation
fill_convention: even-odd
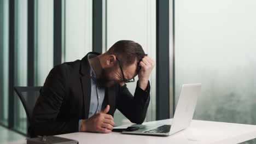
[[[106,3],[107,49],[118,40],[133,40],[141,44],[143,50],[155,61],[156,2],[153,0],[109,0]],[[149,79],[151,84],[151,100],[146,121],[155,120],[155,70],[153,70]],[[127,83],[127,87],[133,94],[135,92],[136,82]],[[130,124],[130,121],[118,110],[115,112],[114,121],[117,125]]]

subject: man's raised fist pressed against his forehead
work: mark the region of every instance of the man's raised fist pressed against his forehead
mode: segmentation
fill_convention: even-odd
[[[153,61],[152,58],[145,56],[142,59],[142,61],[139,62],[139,66],[141,67],[141,69],[139,70],[138,73],[138,85],[145,91],[148,86],[149,75],[152,72],[153,68],[155,67],[155,62]]]

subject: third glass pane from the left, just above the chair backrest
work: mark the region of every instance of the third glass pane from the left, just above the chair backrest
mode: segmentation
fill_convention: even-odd
[[[36,86],[43,86],[46,76],[53,68],[53,7],[52,0],[35,2],[35,79]]]

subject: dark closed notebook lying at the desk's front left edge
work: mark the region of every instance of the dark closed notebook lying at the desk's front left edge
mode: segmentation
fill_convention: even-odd
[[[58,136],[43,136],[27,139],[27,144],[78,144],[76,140],[66,139]]]

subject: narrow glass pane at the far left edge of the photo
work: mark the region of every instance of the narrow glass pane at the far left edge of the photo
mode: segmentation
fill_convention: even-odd
[[[8,126],[9,3],[0,1],[0,124]]]

